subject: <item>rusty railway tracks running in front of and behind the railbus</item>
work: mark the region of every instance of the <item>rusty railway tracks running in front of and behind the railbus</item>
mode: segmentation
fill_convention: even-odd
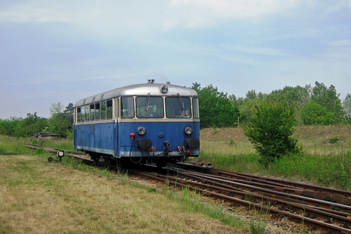
[[[57,153],[57,150],[47,151]],[[85,162],[94,162],[77,156],[80,154],[77,152],[65,153]],[[104,165],[104,162],[99,164]],[[289,217],[311,230],[351,234],[351,192],[183,163],[163,167],[162,172],[154,172],[155,168],[153,165],[141,165],[138,169],[128,168],[128,172],[173,186],[187,186],[233,206],[264,210],[278,219]]]

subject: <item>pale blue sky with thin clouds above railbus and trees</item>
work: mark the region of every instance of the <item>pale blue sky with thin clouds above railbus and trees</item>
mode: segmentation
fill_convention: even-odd
[[[1,0],[0,119],[146,83],[351,93],[351,0]]]

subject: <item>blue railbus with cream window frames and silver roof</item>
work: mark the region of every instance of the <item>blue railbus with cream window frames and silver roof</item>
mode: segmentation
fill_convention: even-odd
[[[116,88],[74,104],[74,149],[111,163],[183,161],[200,153],[197,92],[147,83]]]

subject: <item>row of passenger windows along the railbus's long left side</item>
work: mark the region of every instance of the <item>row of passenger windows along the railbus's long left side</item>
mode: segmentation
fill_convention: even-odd
[[[112,99],[77,107],[77,122],[112,119]]]

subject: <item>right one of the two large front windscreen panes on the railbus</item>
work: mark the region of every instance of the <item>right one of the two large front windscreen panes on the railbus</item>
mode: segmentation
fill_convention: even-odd
[[[166,117],[167,118],[191,118],[191,104],[188,97],[167,97]]]

